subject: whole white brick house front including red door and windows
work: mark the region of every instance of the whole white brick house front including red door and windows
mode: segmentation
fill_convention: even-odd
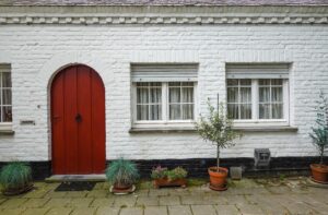
[[[244,133],[223,165],[254,169],[269,148],[273,169],[307,168],[327,24],[324,0],[0,2],[0,162],[46,177],[125,157],[197,175],[215,147],[194,122],[219,94]]]

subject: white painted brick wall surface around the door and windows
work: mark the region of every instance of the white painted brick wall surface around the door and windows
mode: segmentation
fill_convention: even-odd
[[[106,157],[214,157],[215,147],[190,133],[130,134],[130,63],[199,62],[200,111],[225,97],[225,62],[293,62],[291,124],[297,132],[249,132],[223,157],[308,156],[319,89],[328,94],[328,26],[0,26],[0,63],[12,64],[13,136],[0,136],[0,160],[51,159],[49,80],[69,63],[85,63],[106,87]],[[21,126],[20,120],[35,120]]]

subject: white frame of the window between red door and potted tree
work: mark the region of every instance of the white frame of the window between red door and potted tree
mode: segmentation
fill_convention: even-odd
[[[171,81],[172,82],[172,81]],[[191,82],[191,81],[190,81]],[[162,120],[137,120],[137,83],[132,82],[132,128],[194,128],[197,120],[197,82],[194,82],[194,120],[169,120],[168,82],[162,83]]]

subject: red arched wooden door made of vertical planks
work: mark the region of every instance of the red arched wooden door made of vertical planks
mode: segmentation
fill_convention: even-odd
[[[86,65],[60,71],[51,85],[52,174],[105,169],[105,87]]]

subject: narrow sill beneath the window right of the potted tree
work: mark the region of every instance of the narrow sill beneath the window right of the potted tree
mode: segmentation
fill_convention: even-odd
[[[233,130],[245,132],[297,132],[297,127],[290,126],[257,126],[257,127],[234,127]]]

